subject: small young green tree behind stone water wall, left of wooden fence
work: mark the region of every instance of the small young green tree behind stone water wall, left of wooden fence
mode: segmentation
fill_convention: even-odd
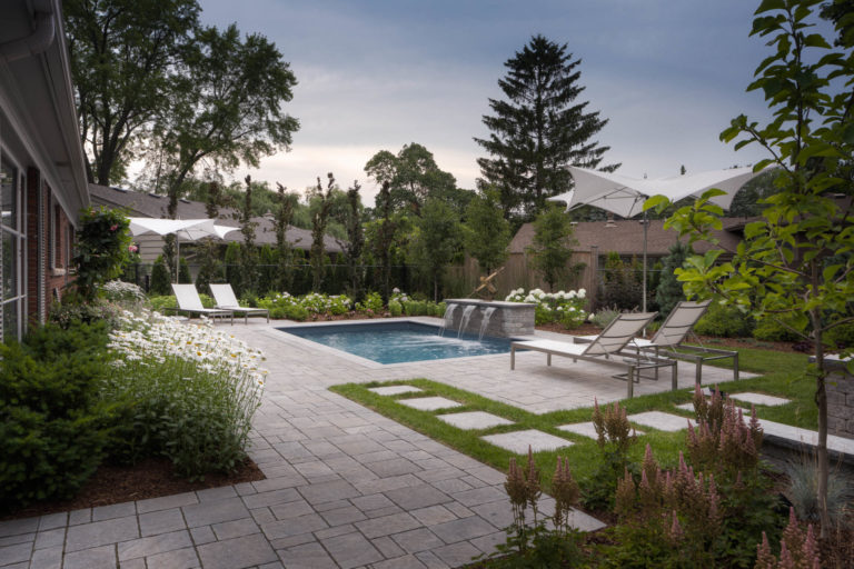
[[[466,208],[463,227],[466,252],[477,260],[481,271],[491,273],[507,259],[510,223],[502,214],[498,194],[484,188]]]

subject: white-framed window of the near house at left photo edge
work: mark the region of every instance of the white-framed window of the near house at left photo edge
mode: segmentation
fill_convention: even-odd
[[[27,289],[23,284],[23,244],[21,209],[24,179],[10,162],[0,161],[0,239],[2,239],[2,296],[3,338],[20,338],[24,321]]]

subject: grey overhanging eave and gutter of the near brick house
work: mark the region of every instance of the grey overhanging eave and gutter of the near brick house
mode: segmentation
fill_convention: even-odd
[[[0,2],[0,130],[72,222],[89,204],[62,13],[52,0]]]

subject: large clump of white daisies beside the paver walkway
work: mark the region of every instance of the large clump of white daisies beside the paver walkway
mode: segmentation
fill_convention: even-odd
[[[203,321],[125,311],[110,333],[115,373],[101,397],[117,402],[111,452],[168,457],[180,476],[234,470],[246,458],[260,405],[264,356]]]

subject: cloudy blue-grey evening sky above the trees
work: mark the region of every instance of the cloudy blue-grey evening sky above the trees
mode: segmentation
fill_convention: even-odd
[[[473,137],[485,138],[488,99],[504,62],[542,33],[582,59],[580,100],[608,124],[598,142],[624,176],[674,176],[747,164],[762,154],[718,141],[744,112],[769,54],[748,38],[758,0],[200,0],[202,21],[236,22],[275,41],[299,81],[287,110],[301,122],[290,152],[251,173],[301,191],[332,171],[376,188],[364,167],[377,151],[418,142],[460,188],[474,188]]]

